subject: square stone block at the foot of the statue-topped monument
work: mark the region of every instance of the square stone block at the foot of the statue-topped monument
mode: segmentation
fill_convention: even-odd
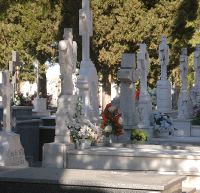
[[[43,146],[42,166],[46,168],[66,168],[67,151],[74,149],[74,144],[46,143]]]

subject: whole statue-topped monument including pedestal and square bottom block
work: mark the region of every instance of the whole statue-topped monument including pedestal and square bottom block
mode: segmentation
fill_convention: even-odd
[[[61,72],[61,94],[56,112],[55,142],[43,147],[44,167],[66,167],[67,150],[73,148],[69,124],[75,113],[77,96],[73,95],[72,73],[76,69],[77,46],[73,41],[72,29],[64,29],[64,40],[59,42],[59,64]]]

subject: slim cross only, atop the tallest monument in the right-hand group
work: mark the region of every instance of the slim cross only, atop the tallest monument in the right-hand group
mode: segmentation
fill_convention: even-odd
[[[169,64],[169,46],[167,45],[167,38],[165,36],[161,39],[159,45],[159,59],[161,65],[161,80],[167,79],[167,65]]]

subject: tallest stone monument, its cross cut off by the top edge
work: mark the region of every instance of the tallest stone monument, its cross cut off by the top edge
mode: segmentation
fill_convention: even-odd
[[[82,0],[79,11],[79,34],[82,36],[82,61],[77,80],[79,96],[83,100],[83,113],[91,122],[99,121],[98,76],[90,59],[90,37],[93,35],[92,12],[89,0]]]

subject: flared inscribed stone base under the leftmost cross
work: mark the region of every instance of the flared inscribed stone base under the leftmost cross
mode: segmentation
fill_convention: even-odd
[[[28,167],[18,134],[0,132],[0,166]]]

